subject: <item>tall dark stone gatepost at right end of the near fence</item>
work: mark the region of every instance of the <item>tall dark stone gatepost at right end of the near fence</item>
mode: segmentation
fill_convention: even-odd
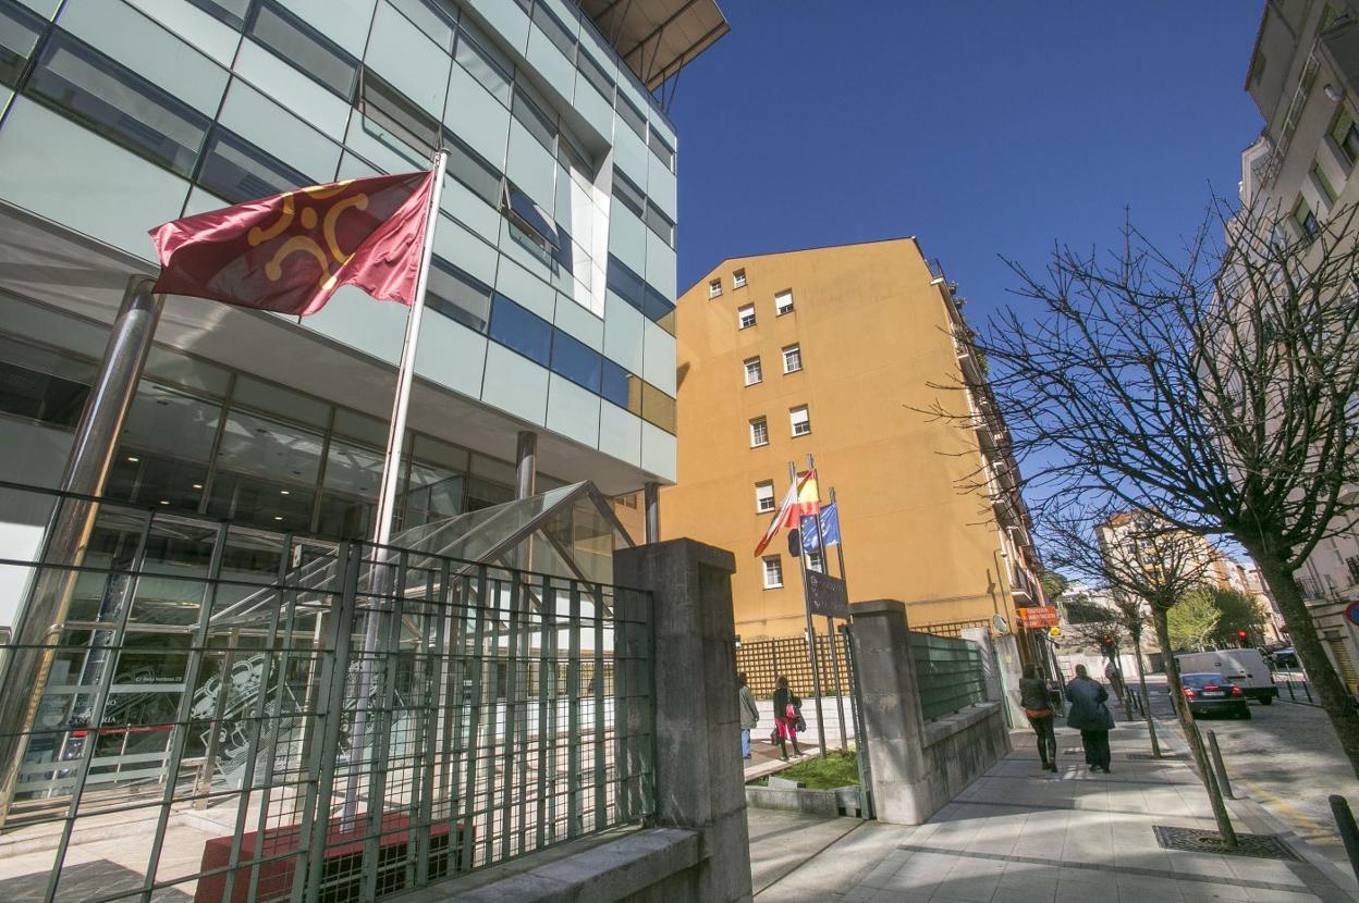
[[[671,539],[613,557],[614,583],[650,589],[655,634],[655,822],[700,832],[697,899],[752,899],[737,707],[730,551]]]

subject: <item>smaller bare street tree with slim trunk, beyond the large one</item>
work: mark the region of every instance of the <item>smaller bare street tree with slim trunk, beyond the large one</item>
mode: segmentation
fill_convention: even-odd
[[[1049,501],[1040,511],[1038,540],[1055,566],[1076,572],[1104,588],[1112,599],[1110,621],[1128,631],[1137,660],[1137,682],[1147,698],[1147,672],[1142,660],[1142,634],[1150,612],[1157,638],[1165,653],[1170,702],[1189,750],[1199,766],[1199,777],[1212,804],[1227,849],[1234,849],[1237,835],[1222,801],[1222,789],[1208,763],[1208,754],[1199,725],[1184,699],[1180,668],[1170,655],[1170,610],[1185,593],[1203,585],[1211,557],[1203,540],[1173,527],[1154,512],[1124,512],[1109,508],[1068,505],[1057,509]],[[1146,712],[1152,754],[1161,756],[1151,706]]]

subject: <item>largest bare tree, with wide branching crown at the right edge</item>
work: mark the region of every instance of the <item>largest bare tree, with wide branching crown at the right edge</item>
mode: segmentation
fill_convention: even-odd
[[[1280,240],[1271,212],[1218,202],[1180,254],[1127,224],[1108,257],[1057,247],[1042,273],[1011,262],[1025,307],[957,337],[989,365],[988,383],[965,386],[976,413],[934,413],[1004,422],[1033,494],[1234,538],[1359,775],[1359,714],[1292,576],[1359,501],[1355,225],[1348,209]]]

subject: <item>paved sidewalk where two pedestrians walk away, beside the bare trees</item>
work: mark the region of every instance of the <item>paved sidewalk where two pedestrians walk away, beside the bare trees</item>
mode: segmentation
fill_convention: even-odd
[[[1144,725],[1110,735],[1113,773],[1091,774],[1079,733],[1059,728],[1057,774],[1033,733],[917,827],[749,809],[756,899],[924,903],[1351,903],[1343,873],[1264,809],[1229,801],[1238,834],[1276,834],[1298,861],[1162,849],[1152,826],[1214,830],[1188,758],[1154,760]],[[1182,743],[1171,740],[1171,751]],[[1341,889],[1344,887],[1345,889]]]

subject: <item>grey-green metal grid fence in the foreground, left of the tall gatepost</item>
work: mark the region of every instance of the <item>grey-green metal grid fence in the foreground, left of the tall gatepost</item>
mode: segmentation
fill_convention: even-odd
[[[71,593],[0,650],[52,659],[0,899],[371,900],[652,812],[646,592],[107,505],[0,568]]]

